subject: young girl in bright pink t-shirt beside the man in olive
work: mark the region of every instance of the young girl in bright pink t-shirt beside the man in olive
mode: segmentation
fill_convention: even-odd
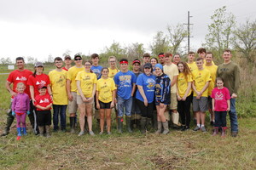
[[[224,87],[224,81],[221,77],[216,78],[217,88],[212,90],[212,111],[214,111],[215,123],[213,136],[218,134],[218,127],[222,128],[221,137],[225,137],[227,129],[227,111],[230,111],[230,91]]]

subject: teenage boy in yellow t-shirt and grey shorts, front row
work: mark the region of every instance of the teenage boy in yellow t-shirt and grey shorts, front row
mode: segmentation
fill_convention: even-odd
[[[195,111],[196,116],[196,127],[194,131],[201,129],[203,133],[207,132],[205,127],[206,120],[206,111],[207,107],[207,98],[208,98],[208,86],[212,81],[210,71],[204,69],[203,59],[201,57],[196,59],[197,68],[195,71],[192,71],[192,88],[194,90],[193,96],[193,111]]]

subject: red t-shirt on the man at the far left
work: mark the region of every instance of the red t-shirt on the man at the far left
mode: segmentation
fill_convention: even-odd
[[[29,71],[26,69],[24,71],[19,71],[19,70],[11,71],[9,73],[9,77],[7,78],[7,81],[13,83],[13,91],[14,92],[16,92],[17,84],[19,82],[23,82],[26,85],[26,89],[24,92],[26,94],[28,94],[28,96],[31,98],[29,86],[27,84],[27,80],[30,75],[32,75],[32,71]]]

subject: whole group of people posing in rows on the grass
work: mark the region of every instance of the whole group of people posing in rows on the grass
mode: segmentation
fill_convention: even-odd
[[[226,116],[229,112],[231,135],[237,136],[236,97],[240,85],[239,66],[231,61],[231,51],[224,50],[222,65],[215,65],[213,54],[205,48],[199,48],[198,58],[189,52],[187,62],[179,54],[160,53],[158,58],[143,54],[143,62],[108,58],[109,67],[99,65],[100,57],[92,54],[90,60],[80,54],[72,58],[54,59],[55,70],[44,74],[44,65],[35,64],[34,72],[25,69],[22,57],[16,59],[17,70],[12,71],[6,82],[6,88],[12,96],[11,111],[7,117],[7,126],[2,135],[17,119],[17,139],[26,135],[26,115],[32,124],[34,133],[49,137],[51,108],[53,108],[53,130],[66,132],[66,112],[68,108],[71,133],[79,120],[79,136],[92,130],[93,116],[99,122],[100,134],[111,134],[111,113],[116,114],[119,133],[123,133],[123,122],[127,131],[132,133],[134,123],[139,124],[142,133],[153,124],[155,133],[169,133],[170,115],[180,116],[182,131],[190,128],[192,105],[195,120],[194,131],[207,132],[205,126],[206,111],[210,113],[213,126],[212,135],[226,134]],[[172,59],[173,58],[173,59]],[[72,62],[74,61],[74,66]],[[11,88],[13,84],[13,88]],[[79,114],[77,114],[79,110]],[[79,115],[79,116],[78,116]],[[106,120],[105,120],[106,116]],[[60,127],[59,127],[60,117]],[[77,119],[78,118],[78,119]],[[21,122],[21,127],[20,127]],[[180,124],[180,125],[179,125]]]

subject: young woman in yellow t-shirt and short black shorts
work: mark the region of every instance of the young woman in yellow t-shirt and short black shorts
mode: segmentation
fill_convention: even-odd
[[[98,80],[96,86],[96,107],[100,110],[100,125],[103,133],[105,113],[107,116],[108,134],[111,134],[111,109],[114,106],[114,99],[116,94],[116,87],[113,78],[108,77],[108,68],[102,68],[102,78]]]

